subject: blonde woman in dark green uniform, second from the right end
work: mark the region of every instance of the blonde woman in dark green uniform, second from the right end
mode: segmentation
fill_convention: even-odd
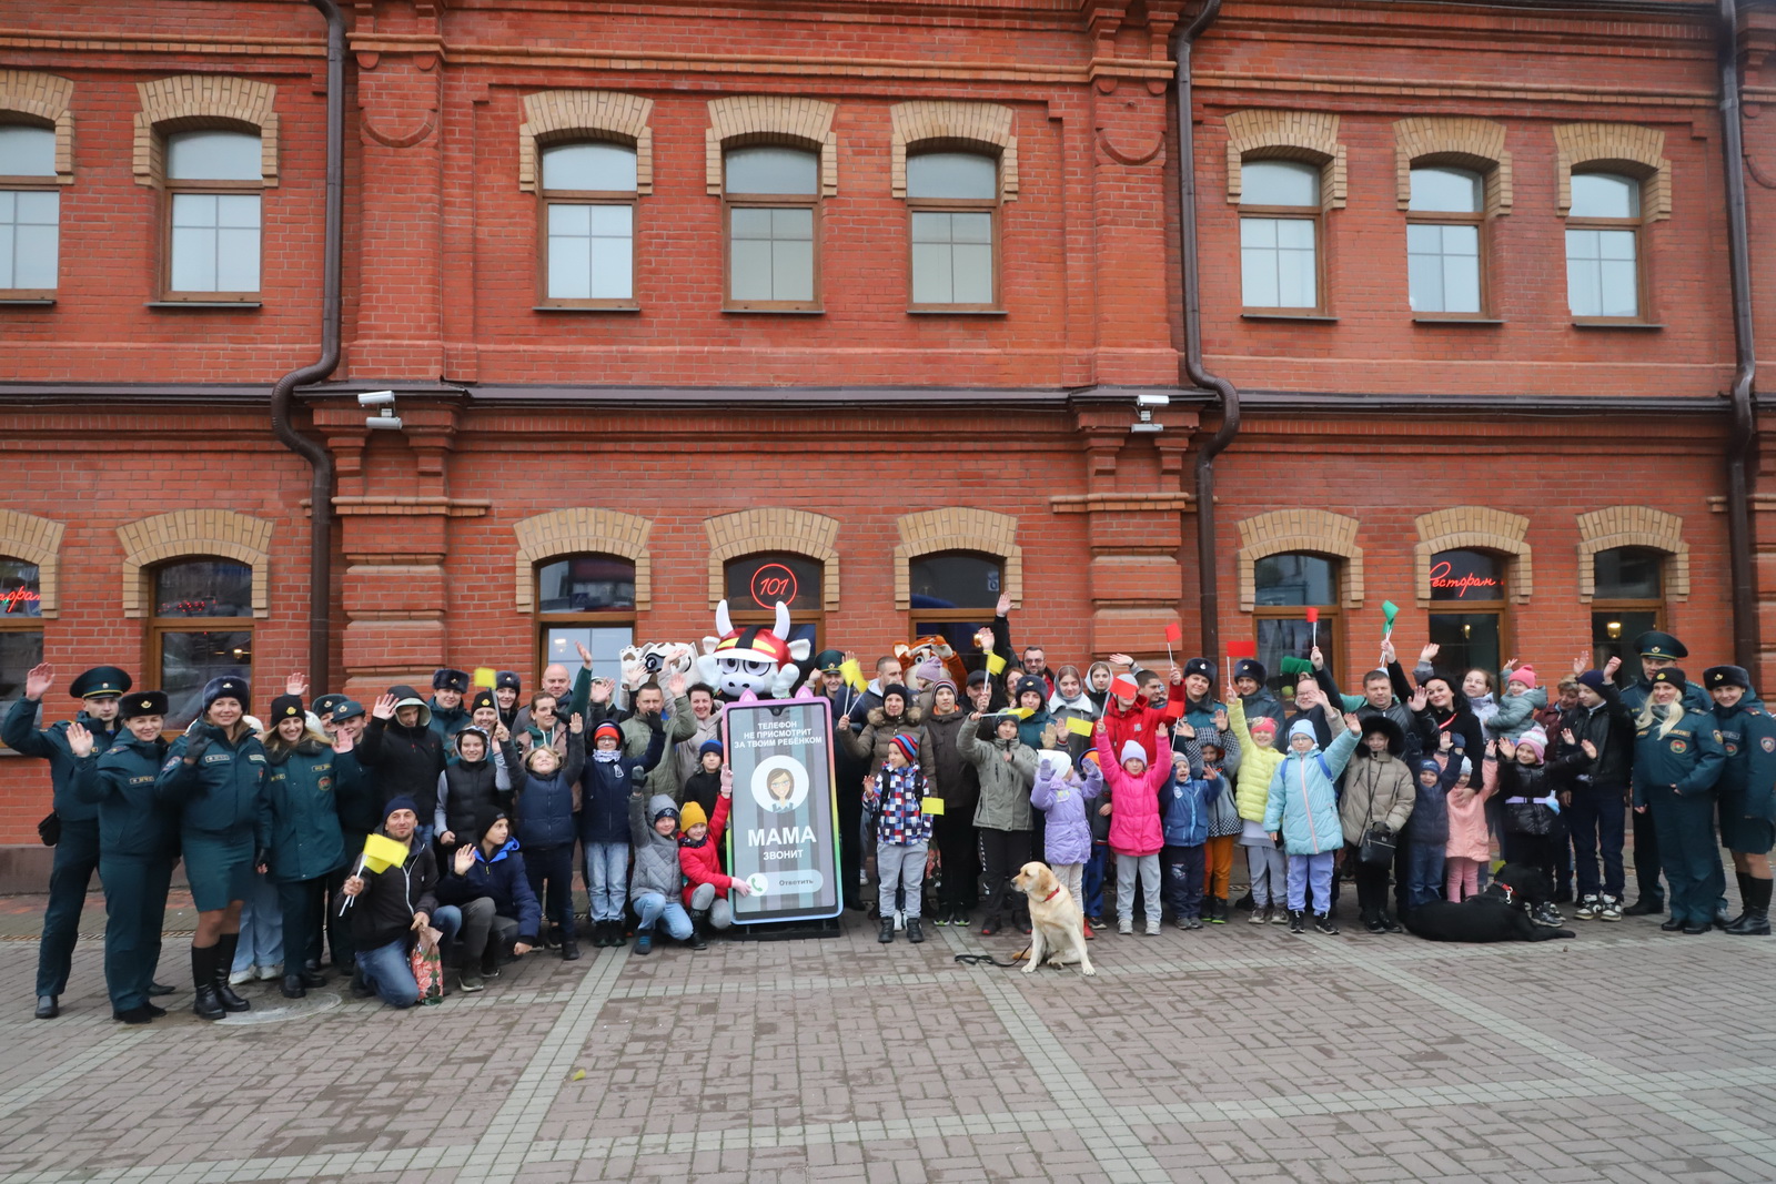
[[[1714,715],[1685,705],[1689,683],[1682,669],[1661,667],[1650,682],[1652,692],[1634,721],[1634,809],[1652,815],[1671,888],[1671,916],[1659,928],[1707,934],[1726,889],[1714,841],[1714,786],[1726,749]]]

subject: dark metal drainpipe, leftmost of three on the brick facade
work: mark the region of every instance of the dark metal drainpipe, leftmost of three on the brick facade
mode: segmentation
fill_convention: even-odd
[[[313,470],[309,488],[309,682],[323,691],[332,635],[332,490],[334,460],[325,446],[289,426],[297,387],[327,378],[339,366],[339,243],[345,201],[345,16],[334,0],[309,0],[327,18],[327,215],[321,275],[321,355],[272,387],[272,431]]]

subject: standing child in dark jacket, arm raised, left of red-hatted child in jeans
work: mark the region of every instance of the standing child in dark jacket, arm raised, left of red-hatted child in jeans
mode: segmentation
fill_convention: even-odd
[[[543,916],[551,923],[549,944],[559,946],[567,962],[579,957],[574,935],[574,840],[579,834],[574,799],[586,762],[583,731],[584,721],[575,715],[568,724],[565,763],[549,744],[531,746],[520,760],[517,746],[504,740],[506,767],[524,770],[513,793],[524,875],[531,893],[543,902]]]

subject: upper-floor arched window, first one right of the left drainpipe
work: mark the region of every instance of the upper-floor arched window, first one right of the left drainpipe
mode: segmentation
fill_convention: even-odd
[[[543,305],[636,307],[636,149],[607,140],[542,153]]]

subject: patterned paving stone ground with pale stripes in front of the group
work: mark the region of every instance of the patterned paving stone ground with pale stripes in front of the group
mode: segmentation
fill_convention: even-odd
[[[62,1017],[28,1017],[37,911],[0,904],[5,1184],[1776,1180],[1776,941],[1648,920],[1440,946],[1236,914],[1105,934],[1083,978],[849,914],[821,941],[533,955],[405,1014],[265,983],[259,1022],[202,1024],[181,991],[124,1028],[98,941]],[[160,976],[185,982],[183,937]]]

